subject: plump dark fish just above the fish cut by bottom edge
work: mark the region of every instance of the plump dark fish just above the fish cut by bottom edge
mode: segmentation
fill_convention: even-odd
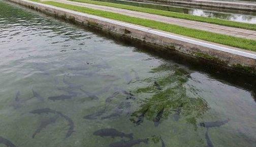
[[[104,136],[121,137],[121,138],[127,137],[130,139],[133,139],[133,133],[125,134],[123,132],[117,131],[116,129],[100,129],[98,131],[95,131],[93,133],[93,135],[97,135],[97,136],[101,136],[101,137],[104,137]]]

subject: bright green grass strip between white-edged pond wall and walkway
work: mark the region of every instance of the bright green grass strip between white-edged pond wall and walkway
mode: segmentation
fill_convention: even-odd
[[[151,27],[159,30],[164,30],[168,32],[173,32],[176,34],[190,36],[192,38],[201,39],[209,42],[219,43],[219,44],[251,50],[251,51],[256,51],[256,41],[253,41],[253,40],[242,39],[234,36],[212,33],[212,32],[207,32],[207,31],[197,30],[197,29],[191,29],[191,28],[186,28],[178,25],[167,24],[163,22],[136,18],[136,17],[126,16],[122,14],[116,14],[116,13],[106,12],[102,10],[94,10],[90,8],[63,4],[58,2],[48,1],[48,2],[41,2],[41,3],[56,6],[56,7],[66,8],[66,9],[74,10],[78,12],[83,12],[87,14],[106,17],[110,19],[115,19],[119,21],[124,21],[128,23],[138,24],[138,25]]]

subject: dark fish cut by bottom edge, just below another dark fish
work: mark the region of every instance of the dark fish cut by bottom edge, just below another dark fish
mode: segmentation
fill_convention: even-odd
[[[128,141],[119,141],[109,144],[110,147],[130,147],[136,144],[140,144],[141,142],[148,143],[148,139],[136,139],[136,140],[128,140]]]

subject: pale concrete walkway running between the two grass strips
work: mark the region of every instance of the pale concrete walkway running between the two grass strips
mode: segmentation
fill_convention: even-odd
[[[65,4],[71,4],[71,5],[76,5],[76,6],[82,6],[82,7],[96,9],[96,10],[104,10],[104,11],[108,11],[108,12],[114,12],[114,13],[118,13],[118,14],[132,16],[132,17],[150,19],[150,20],[155,20],[155,21],[159,21],[159,22],[175,24],[175,25],[179,25],[179,26],[183,26],[183,27],[187,27],[187,28],[194,28],[194,29],[200,29],[200,30],[205,30],[205,31],[209,31],[209,32],[215,32],[215,33],[220,33],[220,34],[236,36],[239,38],[256,40],[256,31],[253,31],[253,30],[246,30],[246,29],[221,26],[221,25],[216,25],[216,24],[209,24],[209,23],[204,23],[204,22],[190,21],[190,20],[185,20],[185,19],[178,19],[178,18],[136,12],[136,11],[131,11],[131,10],[107,7],[107,6],[78,3],[78,2],[72,2],[72,1],[67,1],[67,0],[51,0],[51,1],[65,3]]]

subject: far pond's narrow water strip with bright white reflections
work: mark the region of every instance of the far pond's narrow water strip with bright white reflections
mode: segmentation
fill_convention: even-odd
[[[93,1],[131,5],[131,6],[137,6],[137,7],[185,13],[185,14],[203,16],[203,17],[226,19],[226,20],[245,22],[245,23],[256,23],[256,13],[254,12],[243,12],[243,11],[227,10],[227,9],[226,10],[219,9],[219,11],[216,11],[216,10],[206,10],[207,8],[200,9],[200,8],[177,7],[175,6],[175,4],[173,4],[174,6],[163,6],[163,5],[153,5],[153,4],[146,4],[146,3],[128,2],[128,1],[122,1],[122,0],[93,0]]]

